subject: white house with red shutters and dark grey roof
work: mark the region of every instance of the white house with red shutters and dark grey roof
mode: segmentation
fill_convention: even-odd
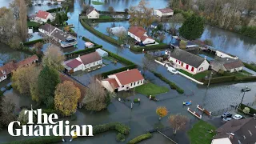
[[[190,74],[198,74],[202,71],[208,70],[209,68],[209,63],[206,58],[191,54],[186,50],[174,48],[172,51],[166,50],[166,54],[169,56],[170,61],[174,62]]]

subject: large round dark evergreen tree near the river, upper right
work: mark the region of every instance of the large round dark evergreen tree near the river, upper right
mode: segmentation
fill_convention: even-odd
[[[182,27],[179,29],[179,34],[182,37],[194,40],[200,38],[204,30],[204,21],[201,17],[193,14],[191,17],[186,18]]]

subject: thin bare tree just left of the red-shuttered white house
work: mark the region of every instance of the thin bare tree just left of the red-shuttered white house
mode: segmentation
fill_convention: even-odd
[[[145,74],[146,70],[154,71],[157,66],[157,63],[154,62],[154,56],[151,54],[145,54],[145,56],[142,58],[143,75]]]

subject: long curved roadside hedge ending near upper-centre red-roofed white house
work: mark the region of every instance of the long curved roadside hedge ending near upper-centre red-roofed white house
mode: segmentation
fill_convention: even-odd
[[[86,28],[86,30],[90,31],[91,33],[95,34],[96,36],[98,36],[98,38],[102,38],[103,40],[106,40],[107,42],[111,42],[114,45],[119,45],[118,41],[114,38],[110,38],[105,34],[102,34],[101,32],[99,32],[98,30],[95,30],[93,27],[89,26],[84,19],[79,18],[80,22],[82,24],[83,27]]]

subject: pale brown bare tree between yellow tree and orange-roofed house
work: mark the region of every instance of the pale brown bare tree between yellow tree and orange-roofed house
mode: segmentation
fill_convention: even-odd
[[[106,98],[107,93],[104,87],[98,82],[98,79],[91,78],[88,89],[86,90],[85,98],[82,101],[86,110],[100,111],[106,109]]]

